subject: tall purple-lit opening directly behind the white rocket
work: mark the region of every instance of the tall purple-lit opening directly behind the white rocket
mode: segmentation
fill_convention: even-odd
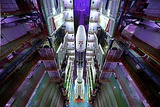
[[[84,25],[86,30],[86,36],[88,36],[89,15],[90,15],[90,0],[74,0],[74,30],[75,30],[74,35],[76,35],[78,26]],[[76,58],[76,53],[77,52],[75,50],[75,58]],[[85,51],[85,55],[86,55],[86,51]],[[74,79],[75,79],[76,69],[77,69],[76,60],[74,61],[74,65],[75,65],[74,66]],[[86,77],[86,61],[84,60],[84,78],[85,77]]]

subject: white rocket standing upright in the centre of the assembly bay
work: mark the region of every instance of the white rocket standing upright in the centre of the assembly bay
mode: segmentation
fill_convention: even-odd
[[[84,79],[83,79],[83,67],[84,67],[84,53],[86,49],[86,32],[83,25],[78,26],[76,33],[76,62],[77,62],[77,78],[74,86],[75,99],[84,99]]]

